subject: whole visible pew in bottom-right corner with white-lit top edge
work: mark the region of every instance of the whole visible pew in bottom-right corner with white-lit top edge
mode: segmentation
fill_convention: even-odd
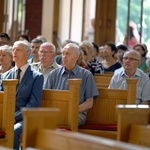
[[[117,112],[117,140],[150,147],[150,107],[118,105]]]

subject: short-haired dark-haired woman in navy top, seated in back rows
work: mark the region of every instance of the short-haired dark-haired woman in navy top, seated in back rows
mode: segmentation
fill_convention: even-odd
[[[104,72],[114,72],[116,69],[122,67],[122,65],[115,58],[116,52],[117,49],[113,42],[107,42],[104,45],[104,60],[102,61]]]

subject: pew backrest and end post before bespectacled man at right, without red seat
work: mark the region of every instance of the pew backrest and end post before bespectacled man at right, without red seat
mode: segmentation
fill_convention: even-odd
[[[98,88],[100,95],[94,100],[86,123],[116,124],[116,105],[136,103],[136,83],[137,79],[127,79],[127,90]]]

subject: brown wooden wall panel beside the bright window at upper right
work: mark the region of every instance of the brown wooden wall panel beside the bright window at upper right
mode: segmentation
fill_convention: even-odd
[[[95,42],[104,45],[108,41],[115,42],[116,1],[97,0]]]

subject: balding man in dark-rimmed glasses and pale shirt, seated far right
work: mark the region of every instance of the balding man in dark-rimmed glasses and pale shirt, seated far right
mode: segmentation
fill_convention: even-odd
[[[127,89],[126,78],[138,78],[136,104],[149,104],[150,80],[138,69],[140,59],[141,56],[137,51],[126,51],[123,55],[123,67],[114,72],[109,88]]]

